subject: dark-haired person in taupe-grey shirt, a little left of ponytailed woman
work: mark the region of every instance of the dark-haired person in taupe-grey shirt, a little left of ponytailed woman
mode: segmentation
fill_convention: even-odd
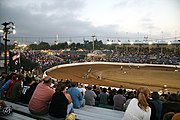
[[[126,102],[126,98],[123,96],[123,90],[119,89],[117,91],[117,95],[114,96],[114,110],[120,110],[123,111],[124,109],[124,103]]]

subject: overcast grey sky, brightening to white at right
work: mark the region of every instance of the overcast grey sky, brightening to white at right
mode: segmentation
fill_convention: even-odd
[[[168,38],[180,36],[180,0],[0,0],[5,21],[15,23],[19,41]]]

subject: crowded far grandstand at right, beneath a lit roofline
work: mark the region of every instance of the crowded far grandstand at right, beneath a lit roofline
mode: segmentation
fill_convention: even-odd
[[[123,43],[116,45],[110,61],[148,64],[180,64],[180,42]]]

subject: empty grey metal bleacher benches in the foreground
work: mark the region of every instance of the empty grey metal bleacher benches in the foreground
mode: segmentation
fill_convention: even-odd
[[[20,104],[11,103],[8,101],[5,101],[7,105],[13,106],[13,113],[9,116],[2,116],[2,119],[20,119],[18,120],[51,120],[49,115],[41,115],[37,116],[34,114],[31,114],[28,110],[27,106],[23,106]],[[86,105],[85,107],[82,107],[80,109],[74,109],[75,114],[77,115],[77,119],[79,120],[121,120],[121,118],[124,115],[124,112],[122,111],[116,111],[116,110],[110,110],[105,108],[99,108],[99,107],[93,107]],[[1,118],[1,117],[0,117]]]

